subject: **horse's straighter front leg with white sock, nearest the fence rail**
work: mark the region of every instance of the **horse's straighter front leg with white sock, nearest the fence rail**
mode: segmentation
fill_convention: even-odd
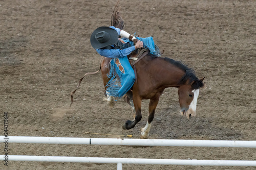
[[[159,101],[159,97],[155,99],[150,100],[150,105],[148,106],[148,118],[147,118],[147,123],[144,128],[141,129],[141,138],[142,139],[147,139],[148,138],[148,133],[150,132],[151,128],[151,123],[153,122],[154,116],[155,116],[155,110],[157,107]]]

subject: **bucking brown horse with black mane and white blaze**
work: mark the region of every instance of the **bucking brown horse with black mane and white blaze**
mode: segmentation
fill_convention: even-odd
[[[109,73],[108,65],[110,60],[110,58],[104,58],[101,62],[101,73],[105,90],[106,83],[109,81],[107,75]],[[199,89],[204,86],[204,78],[199,80],[193,69],[173,59],[163,57],[153,58],[150,55],[146,55],[135,66],[137,81],[126,98],[128,98],[127,103],[130,103],[131,101],[129,99],[132,93],[136,116],[133,120],[127,120],[123,125],[123,129],[134,128],[140,122],[142,118],[141,101],[150,99],[147,124],[141,132],[141,137],[147,138],[159,98],[167,87],[178,88],[182,115],[185,115],[187,118],[196,115]],[[109,96],[109,102],[112,102],[111,99],[113,97]]]

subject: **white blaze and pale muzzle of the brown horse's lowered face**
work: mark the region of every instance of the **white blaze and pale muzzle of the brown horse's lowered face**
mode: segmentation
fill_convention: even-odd
[[[191,99],[189,100],[189,98],[193,98],[192,101],[190,103],[187,103],[188,106],[185,106],[180,101],[180,105],[181,105],[181,115],[185,115],[187,118],[190,118],[190,117],[196,116],[199,89],[192,90],[191,93],[189,93],[188,95],[189,96],[187,101],[191,101]]]

